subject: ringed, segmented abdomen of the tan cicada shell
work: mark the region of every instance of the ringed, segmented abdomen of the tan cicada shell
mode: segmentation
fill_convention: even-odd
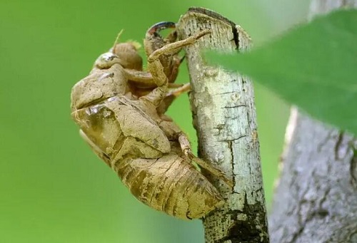
[[[191,162],[171,153],[117,162],[114,170],[141,202],[181,219],[198,219],[223,199]]]

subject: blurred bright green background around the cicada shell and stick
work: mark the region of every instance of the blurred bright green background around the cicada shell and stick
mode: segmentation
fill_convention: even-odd
[[[87,147],[71,121],[71,87],[116,34],[142,41],[189,6],[243,26],[257,45],[305,21],[308,0],[0,1],[0,242],[203,242],[185,222],[142,205]],[[186,64],[178,82],[188,81]],[[271,203],[288,105],[256,84],[258,132]],[[169,110],[196,147],[187,95]]]

